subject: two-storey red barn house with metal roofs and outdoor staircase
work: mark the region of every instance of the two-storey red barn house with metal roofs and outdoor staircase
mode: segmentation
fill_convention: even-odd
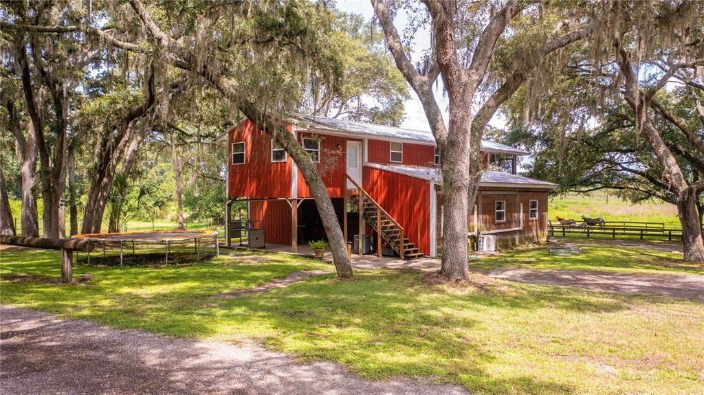
[[[432,134],[308,115],[289,115],[288,122],[318,162],[348,241],[363,233],[374,250],[389,247],[406,258],[441,254],[443,193]],[[298,243],[325,238],[306,181],[268,134],[245,119],[227,142],[228,242],[249,231],[296,251]],[[501,245],[545,240],[548,190],[556,185],[518,176],[516,157],[527,155],[521,150],[482,141],[482,154],[487,170],[467,235],[496,235]],[[230,213],[236,201],[246,202],[246,214]]]

